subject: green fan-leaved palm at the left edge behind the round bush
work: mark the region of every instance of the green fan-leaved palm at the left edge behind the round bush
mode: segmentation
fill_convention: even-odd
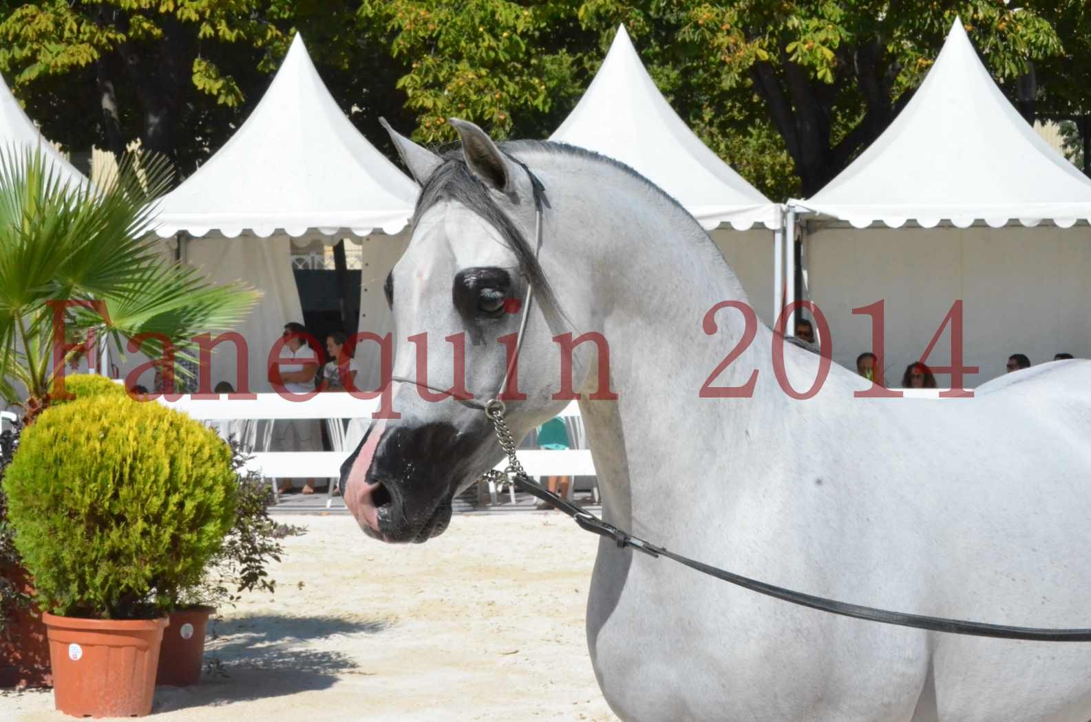
[[[160,254],[149,231],[170,179],[166,161],[143,154],[106,183],[76,184],[39,151],[0,149],[0,396],[27,421],[49,405],[60,369],[55,312],[69,340],[94,334],[123,352],[140,339],[151,358],[169,340],[192,359],[190,339],[231,327],[257,299]]]

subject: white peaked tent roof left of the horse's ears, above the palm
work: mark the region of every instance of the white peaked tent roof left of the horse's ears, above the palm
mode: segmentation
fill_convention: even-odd
[[[417,185],[349,122],[297,34],[235,135],[159,203],[160,236],[396,233]]]

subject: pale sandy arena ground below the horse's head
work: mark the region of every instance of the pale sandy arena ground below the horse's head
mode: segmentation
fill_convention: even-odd
[[[154,717],[205,720],[616,720],[595,682],[584,609],[596,538],[558,514],[455,517],[427,544],[367,539],[347,516],[305,527],[275,595],[224,610],[189,689]],[[68,720],[50,691],[0,696],[0,719]]]

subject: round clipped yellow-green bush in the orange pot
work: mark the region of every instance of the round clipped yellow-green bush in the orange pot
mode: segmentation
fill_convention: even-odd
[[[153,614],[195,583],[235,519],[230,449],[159,404],[76,399],[23,431],[3,480],[39,605]]]

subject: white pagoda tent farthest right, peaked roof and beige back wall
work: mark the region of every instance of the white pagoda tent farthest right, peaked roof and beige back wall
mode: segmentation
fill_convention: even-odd
[[[880,299],[888,385],[958,299],[964,360],[981,369],[969,387],[1012,353],[1091,357],[1091,179],[1008,103],[961,21],[886,132],[811,198],[790,201],[788,216],[790,228],[801,221],[834,359],[849,368],[873,350],[871,318],[852,309]],[[948,328],[927,362],[949,359]]]

